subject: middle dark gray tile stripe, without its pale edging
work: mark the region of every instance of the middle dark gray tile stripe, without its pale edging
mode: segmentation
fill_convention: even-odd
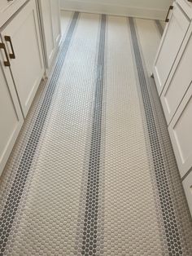
[[[98,236],[99,169],[101,161],[103,117],[103,73],[105,52],[106,15],[102,15],[98,44],[98,64],[94,92],[94,113],[89,150],[85,215],[81,245],[82,255],[96,255]]]

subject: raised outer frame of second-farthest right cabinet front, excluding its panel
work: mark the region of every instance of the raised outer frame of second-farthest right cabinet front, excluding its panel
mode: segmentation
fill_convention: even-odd
[[[180,64],[181,64],[182,58],[185,56],[185,51],[187,50],[187,47],[188,47],[189,43],[192,43],[192,23],[190,24],[190,28],[187,31],[187,34],[186,34],[185,39],[184,39],[184,42],[182,43],[181,49],[180,49],[180,51],[179,51],[179,53],[177,55],[177,59],[176,59],[175,63],[173,64],[172,71],[171,71],[171,73],[168,76],[168,80],[167,80],[167,82],[166,82],[166,84],[164,86],[164,90],[163,90],[163,92],[161,94],[161,97],[160,97],[161,104],[162,104],[162,106],[164,108],[164,115],[166,117],[166,121],[167,121],[168,124],[172,120],[172,117],[176,113],[177,108],[181,104],[181,100],[185,96],[186,90],[188,90],[188,88],[190,86],[190,83],[189,83],[189,85],[185,88],[185,91],[184,91],[183,95],[181,95],[181,100],[180,100],[180,102],[177,105],[177,108],[174,109],[174,111],[169,111],[168,102],[166,100],[166,94],[167,94],[168,89],[170,88],[170,86],[172,86],[172,80],[173,80],[175,74],[177,73],[178,68],[180,68]],[[191,53],[191,56],[192,56],[192,53]],[[192,81],[192,72],[191,72],[191,81]]]

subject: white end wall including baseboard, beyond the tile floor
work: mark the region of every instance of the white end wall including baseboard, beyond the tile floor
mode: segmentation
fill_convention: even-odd
[[[60,0],[61,9],[164,20],[172,0]]]

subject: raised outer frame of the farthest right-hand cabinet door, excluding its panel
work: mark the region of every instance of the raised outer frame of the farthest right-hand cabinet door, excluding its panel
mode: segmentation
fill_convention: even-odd
[[[181,40],[181,44],[182,44],[182,42],[183,42],[183,40],[185,38],[185,34],[187,33],[187,29],[190,26],[190,20],[186,17],[186,15],[183,13],[181,8],[178,7],[177,4],[174,2],[173,3],[173,9],[172,9],[172,11],[171,11],[171,13],[169,15],[169,22],[168,22],[168,24],[166,25],[166,27],[164,29],[164,35],[163,35],[163,37],[161,39],[161,43],[160,43],[157,55],[155,56],[155,62],[154,62],[154,65],[153,65],[153,75],[155,77],[155,83],[156,83],[156,87],[157,87],[159,95],[161,95],[161,93],[162,93],[162,91],[164,89],[164,85],[167,82],[168,76],[169,76],[169,74],[170,74],[170,72],[172,70],[172,65],[174,64],[174,62],[175,62],[175,60],[177,58],[177,54],[178,54],[178,52],[179,52],[179,50],[181,48],[181,45],[180,45],[179,48],[178,48],[178,51],[177,51],[177,53],[175,55],[175,59],[172,61],[171,67],[168,70],[168,74],[166,74],[167,76],[165,78],[165,81],[164,81],[164,83],[162,83],[161,82],[162,79],[161,79],[161,77],[159,77],[159,71],[158,71],[158,68],[157,68],[157,63],[158,63],[159,58],[161,56],[161,51],[162,51],[162,49],[164,47],[164,42],[166,42],[166,40],[167,40],[167,35],[169,34],[170,27],[172,26],[172,19],[173,19],[173,17],[175,17],[175,15],[177,15],[178,20],[180,20],[179,18],[181,18],[183,23],[185,22],[185,24],[183,24],[183,26],[185,28],[185,33],[184,33],[184,36],[183,36],[183,38]]]

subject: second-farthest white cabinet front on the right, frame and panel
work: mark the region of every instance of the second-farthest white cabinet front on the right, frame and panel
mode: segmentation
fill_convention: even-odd
[[[186,42],[183,43],[185,46],[181,47],[181,52],[177,57],[160,98],[168,124],[176,113],[181,99],[183,99],[192,81],[192,25],[190,26],[189,34],[190,38],[188,37],[185,40]]]

